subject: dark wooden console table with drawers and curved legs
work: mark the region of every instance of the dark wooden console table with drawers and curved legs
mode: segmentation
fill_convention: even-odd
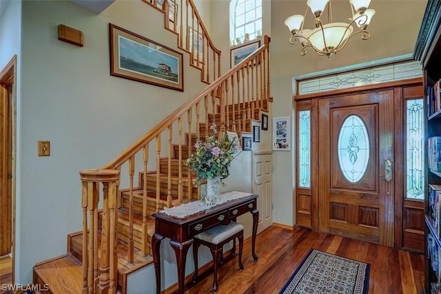
[[[255,253],[256,233],[259,212],[257,210],[257,195],[245,196],[240,199],[231,200],[218,204],[205,211],[198,212],[186,218],[176,218],[165,213],[153,213],[155,218],[155,233],[152,237],[152,251],[154,271],[156,273],[156,293],[161,293],[161,263],[159,248],[161,240],[170,238],[170,245],[176,255],[178,268],[179,293],[185,291],[185,260],[189,246],[193,244],[193,236],[210,229],[217,224],[228,224],[244,213],[250,212],[253,215],[252,231],[252,255],[254,262],[258,255]]]

